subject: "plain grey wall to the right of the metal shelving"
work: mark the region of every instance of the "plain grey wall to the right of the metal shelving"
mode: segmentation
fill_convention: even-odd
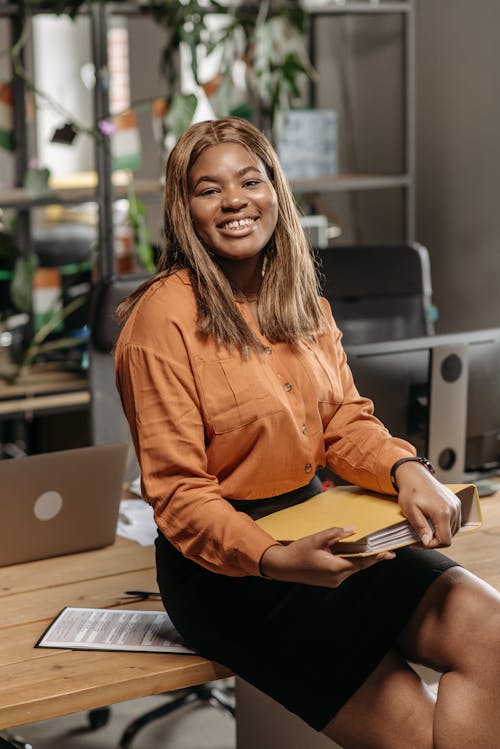
[[[500,4],[417,0],[417,235],[440,331],[500,326]]]

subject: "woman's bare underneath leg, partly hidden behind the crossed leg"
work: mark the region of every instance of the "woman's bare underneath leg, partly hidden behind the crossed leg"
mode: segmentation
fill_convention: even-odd
[[[323,733],[344,749],[432,749],[434,701],[406,660],[391,651]]]

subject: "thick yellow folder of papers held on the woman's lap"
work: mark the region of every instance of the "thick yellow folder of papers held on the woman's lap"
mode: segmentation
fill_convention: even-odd
[[[459,532],[481,527],[481,505],[474,484],[447,484],[462,503]],[[277,541],[290,542],[334,526],[355,532],[332,547],[342,556],[376,554],[419,541],[396,500],[359,486],[337,486],[257,520]]]

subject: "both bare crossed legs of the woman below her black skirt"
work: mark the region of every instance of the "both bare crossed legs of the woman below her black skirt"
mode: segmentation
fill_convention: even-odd
[[[498,749],[500,595],[460,567],[443,573],[398,642],[324,733],[345,749]],[[434,705],[406,659],[443,673]]]

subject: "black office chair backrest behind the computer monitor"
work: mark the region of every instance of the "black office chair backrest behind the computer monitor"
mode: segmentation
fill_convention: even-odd
[[[429,253],[417,242],[315,250],[344,345],[434,332]]]

